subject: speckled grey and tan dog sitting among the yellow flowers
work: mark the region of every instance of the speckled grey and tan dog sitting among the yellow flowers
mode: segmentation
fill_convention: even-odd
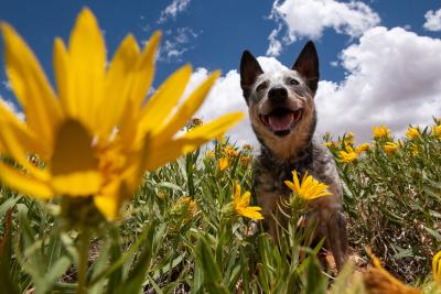
[[[252,130],[261,145],[254,170],[257,203],[265,227],[277,240],[277,225],[288,220],[279,206],[291,195],[283,181],[291,172],[305,172],[329,185],[332,196],[309,203],[306,221],[316,224],[315,240],[325,238],[336,268],[347,261],[346,221],[342,214],[342,184],[327,149],[313,140],[316,124],[314,96],[319,84],[319,57],[309,41],[288,70],[263,73],[249,51],[240,59],[240,87],[248,106]],[[284,224],[284,225],[283,225]]]

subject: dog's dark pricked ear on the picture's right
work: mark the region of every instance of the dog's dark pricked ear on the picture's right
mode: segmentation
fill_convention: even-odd
[[[312,41],[304,45],[302,52],[297,57],[293,70],[300,73],[306,81],[308,87],[315,94],[319,84],[319,56]]]

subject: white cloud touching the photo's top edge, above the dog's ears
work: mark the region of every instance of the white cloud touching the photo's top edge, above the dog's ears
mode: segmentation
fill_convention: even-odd
[[[268,36],[267,55],[270,56],[278,56],[282,44],[289,45],[298,39],[320,39],[329,28],[355,37],[380,21],[378,14],[362,1],[335,0],[277,0],[270,19],[278,23],[278,28]],[[283,28],[286,33],[280,40]]]

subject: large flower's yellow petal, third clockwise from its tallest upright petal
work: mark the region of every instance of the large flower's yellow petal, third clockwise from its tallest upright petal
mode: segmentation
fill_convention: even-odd
[[[184,92],[191,75],[192,67],[185,65],[161,85],[142,109],[140,120],[142,130],[149,131],[162,127]]]

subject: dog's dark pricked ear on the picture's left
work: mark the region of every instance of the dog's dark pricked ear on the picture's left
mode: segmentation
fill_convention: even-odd
[[[244,51],[240,58],[240,87],[244,91],[244,97],[247,104],[249,95],[251,94],[251,87],[257,77],[261,74],[263,74],[263,70],[261,69],[259,62],[249,51]]]

